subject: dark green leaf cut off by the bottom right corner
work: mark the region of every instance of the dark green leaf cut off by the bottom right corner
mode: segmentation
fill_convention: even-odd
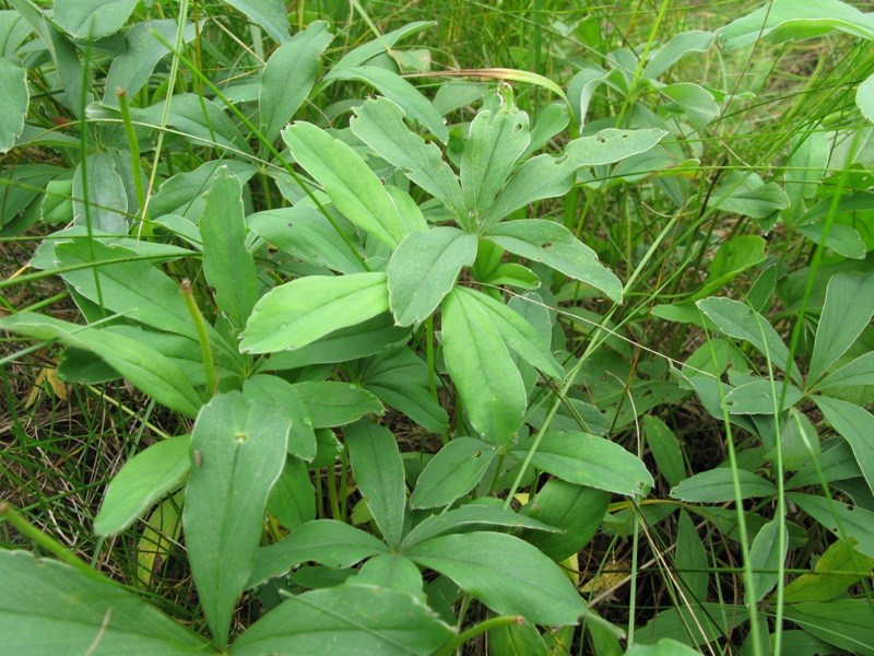
[[[874,654],[874,610],[869,599],[787,605],[783,617],[848,654]]]

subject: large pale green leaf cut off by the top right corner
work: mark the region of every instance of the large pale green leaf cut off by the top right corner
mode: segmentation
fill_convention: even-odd
[[[775,0],[737,19],[717,33],[727,50],[743,48],[759,39],[779,44],[802,40],[840,30],[853,36],[874,39],[874,17],[838,0]]]

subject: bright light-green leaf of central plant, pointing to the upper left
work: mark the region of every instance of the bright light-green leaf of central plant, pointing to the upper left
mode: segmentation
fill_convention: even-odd
[[[408,226],[386,187],[355,151],[316,126],[297,121],[282,131],[295,161],[323,187],[350,221],[394,249],[424,221]]]

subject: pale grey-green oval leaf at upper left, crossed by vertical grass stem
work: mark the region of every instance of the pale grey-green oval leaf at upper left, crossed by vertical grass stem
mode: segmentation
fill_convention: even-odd
[[[125,235],[128,233],[127,211],[125,180],[113,156],[108,152],[88,155],[73,175],[73,221],[79,225],[90,222],[95,230]]]

